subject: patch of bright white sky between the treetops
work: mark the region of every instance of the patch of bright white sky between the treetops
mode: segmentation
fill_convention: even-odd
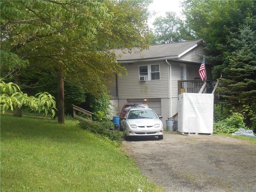
[[[153,3],[148,8],[150,12],[156,12],[156,15],[148,20],[148,25],[152,27],[155,18],[159,16],[165,17],[166,12],[176,12],[177,16],[181,16],[182,8],[180,7],[180,2],[182,0],[153,0]]]

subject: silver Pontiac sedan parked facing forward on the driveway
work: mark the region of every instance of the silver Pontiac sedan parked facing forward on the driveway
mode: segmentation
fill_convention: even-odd
[[[124,136],[158,136],[164,138],[163,123],[154,110],[150,108],[133,108],[124,116]]]

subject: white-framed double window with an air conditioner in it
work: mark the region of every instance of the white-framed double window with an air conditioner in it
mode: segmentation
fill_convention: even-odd
[[[140,81],[160,80],[159,64],[139,66],[139,78]]]

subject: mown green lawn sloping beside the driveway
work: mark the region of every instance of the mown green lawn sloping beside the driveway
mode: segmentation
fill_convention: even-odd
[[[1,192],[163,192],[78,121],[1,114]]]

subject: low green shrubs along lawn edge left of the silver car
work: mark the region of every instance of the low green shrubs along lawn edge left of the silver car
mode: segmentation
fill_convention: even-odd
[[[83,121],[80,122],[80,126],[84,130],[88,130],[94,134],[107,137],[110,140],[116,141],[118,143],[121,143],[123,140],[124,132],[114,130],[114,124],[109,120],[104,120],[102,122]]]

